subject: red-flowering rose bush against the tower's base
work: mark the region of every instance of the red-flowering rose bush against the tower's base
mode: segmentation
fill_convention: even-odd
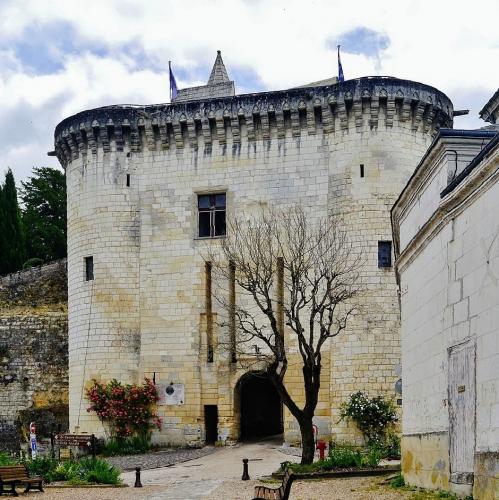
[[[148,437],[152,429],[161,429],[161,419],[154,411],[158,392],[148,378],[142,385],[123,385],[115,379],[101,384],[94,380],[86,394],[90,401],[87,411],[97,413],[112,439]]]

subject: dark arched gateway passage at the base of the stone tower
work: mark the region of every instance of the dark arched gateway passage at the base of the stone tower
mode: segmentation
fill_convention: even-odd
[[[281,398],[267,375],[250,373],[239,383],[241,439],[281,434],[283,432]]]

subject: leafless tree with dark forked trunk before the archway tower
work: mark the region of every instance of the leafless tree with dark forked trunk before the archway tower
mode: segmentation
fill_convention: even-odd
[[[352,251],[340,217],[310,217],[295,206],[229,219],[227,237],[220,248],[212,247],[207,259],[217,276],[215,299],[226,310],[227,320],[221,326],[232,324],[235,330],[235,338],[225,345],[238,360],[263,364],[298,421],[301,462],[311,463],[321,350],[355,312],[359,252]],[[237,304],[224,290],[223,283],[230,280],[238,287]],[[305,394],[301,408],[285,383],[290,346],[298,347],[301,355]],[[248,347],[254,347],[251,354]]]

